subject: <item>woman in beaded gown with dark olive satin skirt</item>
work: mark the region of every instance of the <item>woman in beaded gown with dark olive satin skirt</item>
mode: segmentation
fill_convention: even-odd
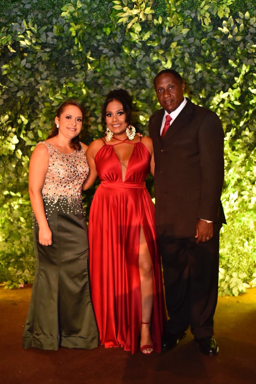
[[[89,167],[79,142],[83,109],[74,101],[57,111],[53,132],[30,160],[36,272],[23,348],[98,346],[90,300],[88,236],[81,190]]]

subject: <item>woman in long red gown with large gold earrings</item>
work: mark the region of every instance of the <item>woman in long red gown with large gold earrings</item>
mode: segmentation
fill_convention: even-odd
[[[89,248],[91,296],[100,344],[135,353],[161,352],[165,316],[155,211],[145,180],[154,172],[153,145],[131,123],[131,99],[118,89],[102,110],[105,139],[86,157],[90,176],[101,184],[91,204]]]

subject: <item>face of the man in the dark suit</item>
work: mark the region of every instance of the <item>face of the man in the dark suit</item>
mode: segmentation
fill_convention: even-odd
[[[171,73],[163,73],[155,79],[155,91],[162,108],[168,113],[175,111],[184,100],[185,84]]]

